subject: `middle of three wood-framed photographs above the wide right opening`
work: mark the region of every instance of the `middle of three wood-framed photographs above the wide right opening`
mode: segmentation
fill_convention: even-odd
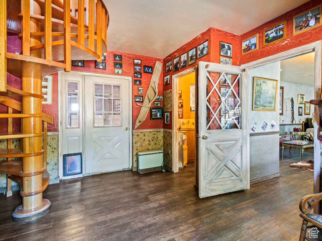
[[[286,20],[265,29],[263,36],[263,47],[286,39]]]

